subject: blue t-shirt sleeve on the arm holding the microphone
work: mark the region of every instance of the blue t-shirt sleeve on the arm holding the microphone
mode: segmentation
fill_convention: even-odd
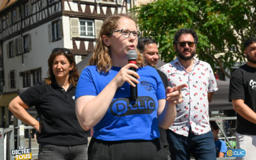
[[[93,67],[89,66],[83,69],[76,86],[76,99],[83,95],[95,95],[97,91],[93,83]]]

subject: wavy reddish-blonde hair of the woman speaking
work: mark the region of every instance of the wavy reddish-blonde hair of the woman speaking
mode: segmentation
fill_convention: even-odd
[[[118,26],[118,20],[122,17],[126,17],[134,21],[134,19],[132,19],[132,17],[129,15],[112,15],[103,22],[100,28],[99,38],[97,39],[92,58],[89,60],[89,65],[96,65],[99,72],[108,72],[112,67],[110,49],[107,45],[104,44],[102,36],[106,35],[111,37],[114,29]],[[143,55],[138,51],[138,49],[136,49],[136,52],[138,54],[137,65],[138,67],[143,67],[145,65]]]

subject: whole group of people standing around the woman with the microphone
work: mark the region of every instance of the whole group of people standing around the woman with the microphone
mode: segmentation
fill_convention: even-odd
[[[36,130],[38,159],[216,159],[227,147],[209,121],[218,90],[211,65],[195,57],[195,29],[173,37],[177,58],[156,69],[157,42],[140,37],[125,14],[102,24],[88,67],[80,76],[72,53],[55,48],[48,75],[10,102],[9,109]],[[129,63],[127,52],[136,52]],[[237,111],[237,148],[256,148],[256,36],[244,45],[248,62],[230,79]],[[131,88],[138,92],[131,99]],[[26,111],[35,106],[38,120]],[[93,128],[88,144],[86,131]],[[250,143],[250,144],[249,144]],[[87,148],[88,146],[88,148]]]

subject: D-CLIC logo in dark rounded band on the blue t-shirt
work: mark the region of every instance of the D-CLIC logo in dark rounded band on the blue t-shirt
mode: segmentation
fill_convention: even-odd
[[[111,102],[109,109],[115,116],[150,114],[156,108],[154,99],[148,96],[138,97],[136,101],[120,98]]]

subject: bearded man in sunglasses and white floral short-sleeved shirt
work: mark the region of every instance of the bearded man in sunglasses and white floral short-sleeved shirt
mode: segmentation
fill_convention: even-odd
[[[159,70],[169,86],[188,84],[182,89],[184,102],[177,104],[177,116],[167,131],[172,159],[216,159],[209,125],[209,102],[218,90],[211,66],[195,58],[198,36],[194,29],[179,29],[173,39],[177,58]]]

